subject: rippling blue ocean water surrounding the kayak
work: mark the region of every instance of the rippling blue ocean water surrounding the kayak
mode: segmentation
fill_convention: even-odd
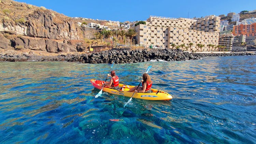
[[[111,64],[0,62],[0,143],[256,143],[256,56],[114,64],[120,83],[173,96],[99,92]],[[110,121],[119,119],[119,121]]]

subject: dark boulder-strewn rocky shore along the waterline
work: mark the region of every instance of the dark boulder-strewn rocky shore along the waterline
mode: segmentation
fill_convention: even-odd
[[[150,60],[182,61],[201,59],[208,56],[245,56],[255,53],[187,53],[180,49],[135,49],[114,48],[97,53],[60,54],[56,56],[35,55],[33,53],[11,55],[0,54],[0,61],[68,61],[82,63],[136,63]]]

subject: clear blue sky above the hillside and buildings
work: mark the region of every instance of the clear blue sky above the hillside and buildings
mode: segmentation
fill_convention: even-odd
[[[15,0],[44,6],[69,17],[113,21],[146,20],[150,15],[193,18],[256,9],[256,0]]]

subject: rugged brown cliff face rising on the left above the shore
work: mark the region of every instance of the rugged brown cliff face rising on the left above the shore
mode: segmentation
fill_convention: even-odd
[[[88,44],[83,41],[86,34],[70,17],[12,0],[1,0],[0,8],[0,48],[87,51]]]

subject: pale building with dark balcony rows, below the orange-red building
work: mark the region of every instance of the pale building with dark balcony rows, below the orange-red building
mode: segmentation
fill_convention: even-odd
[[[243,43],[245,42],[245,35],[233,35],[231,33],[229,34],[223,34],[219,36],[219,45],[225,46],[224,48],[219,48],[218,51],[225,51],[225,49],[229,52],[232,51],[232,47],[236,43]]]

